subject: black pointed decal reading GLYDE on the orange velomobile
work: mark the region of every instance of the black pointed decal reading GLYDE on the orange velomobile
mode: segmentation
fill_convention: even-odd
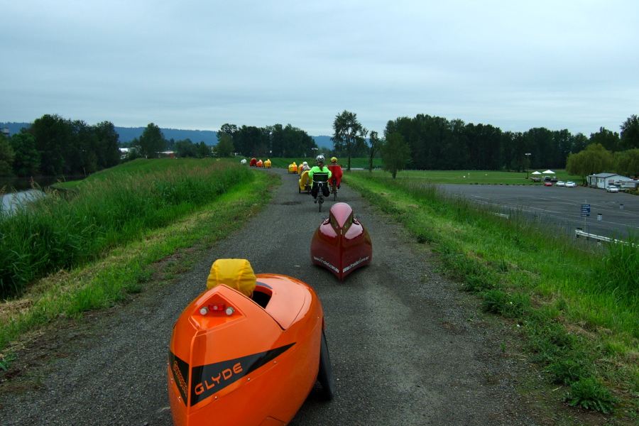
[[[228,361],[193,367],[190,405],[193,406],[209,398],[214,393],[222,391],[226,386],[235,383],[246,374],[256,371],[261,366],[273,361],[273,359],[288,351],[294,344],[287,344],[270,351],[229,359]],[[241,371],[239,372],[236,372],[235,369],[237,364],[241,366]],[[225,372],[226,374],[224,374]]]

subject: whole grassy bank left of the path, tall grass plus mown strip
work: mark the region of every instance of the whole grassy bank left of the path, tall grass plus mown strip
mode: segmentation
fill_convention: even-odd
[[[275,179],[275,180],[274,180]],[[0,215],[0,368],[56,318],[110,307],[187,271],[268,201],[276,176],[215,160],[136,160]],[[160,271],[158,261],[167,260]]]

